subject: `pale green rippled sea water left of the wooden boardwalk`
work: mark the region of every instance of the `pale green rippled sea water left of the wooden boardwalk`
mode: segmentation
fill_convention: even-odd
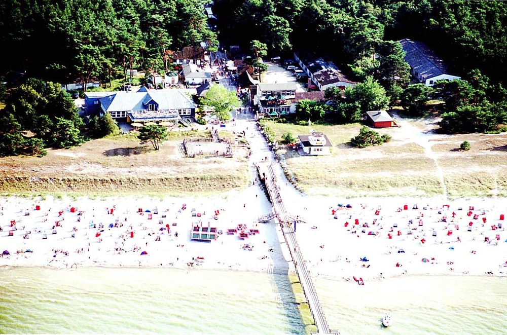
[[[0,333],[304,333],[286,275],[0,269]]]

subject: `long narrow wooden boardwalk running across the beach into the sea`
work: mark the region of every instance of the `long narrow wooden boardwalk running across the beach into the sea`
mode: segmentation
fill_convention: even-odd
[[[325,321],[317,293],[315,292],[313,282],[306,269],[303,255],[301,254],[295,232],[291,225],[293,219],[288,216],[285,206],[283,205],[273,167],[270,164],[261,163],[257,165],[257,169],[261,179],[264,179],[269,198],[273,204],[273,214],[278,218],[282,226],[283,238],[285,239],[292,260],[294,261],[294,268],[296,269],[301,286],[303,287],[303,293],[305,294],[310,312],[315,320],[317,331],[319,334],[338,334],[338,330],[329,329],[328,323]]]

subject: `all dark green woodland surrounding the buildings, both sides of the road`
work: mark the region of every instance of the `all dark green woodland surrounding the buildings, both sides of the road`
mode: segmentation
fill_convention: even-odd
[[[0,2],[0,156],[43,155],[115,130],[107,118],[83,121],[56,83],[124,79],[130,69],[167,68],[167,50],[205,42],[210,51],[239,45],[254,56],[293,50],[332,57],[359,82],[331,103],[303,101],[300,122],[360,121],[371,109],[401,105],[418,115],[438,99],[441,130],[498,132],[507,125],[507,3],[441,0],[215,0],[219,32],[206,0],[10,0]],[[408,85],[401,45],[426,43],[463,80],[433,88]],[[11,81],[9,73],[26,73]],[[37,78],[37,79],[34,79]],[[7,82],[7,86],[3,84]]]

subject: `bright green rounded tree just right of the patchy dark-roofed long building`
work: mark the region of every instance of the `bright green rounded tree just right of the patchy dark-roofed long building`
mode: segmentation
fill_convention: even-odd
[[[355,87],[347,87],[345,96],[350,101],[359,103],[363,112],[384,109],[389,102],[385,95],[385,89],[372,76],[366,77],[363,83],[359,83]]]

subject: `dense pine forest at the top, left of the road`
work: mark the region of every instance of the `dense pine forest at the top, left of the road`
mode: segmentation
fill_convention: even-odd
[[[103,83],[164,69],[166,50],[216,48],[203,0],[10,0],[0,3],[0,73]]]

